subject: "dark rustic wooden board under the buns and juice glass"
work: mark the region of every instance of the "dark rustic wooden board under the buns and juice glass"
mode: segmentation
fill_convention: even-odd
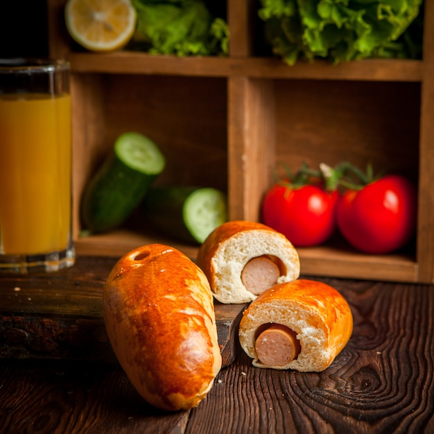
[[[78,257],[56,273],[0,275],[0,358],[117,363],[102,311],[103,285],[116,260]],[[215,304],[223,366],[236,357],[245,307]]]

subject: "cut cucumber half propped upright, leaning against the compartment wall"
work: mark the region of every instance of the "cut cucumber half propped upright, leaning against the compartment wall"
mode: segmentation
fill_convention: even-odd
[[[85,229],[100,233],[121,225],[140,205],[165,165],[161,150],[144,134],[121,134],[83,193]]]

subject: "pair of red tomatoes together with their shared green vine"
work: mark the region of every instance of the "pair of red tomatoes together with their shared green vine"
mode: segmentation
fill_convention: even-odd
[[[266,193],[261,216],[296,247],[324,243],[338,228],[357,250],[385,254],[415,234],[417,191],[401,175],[374,177],[370,165],[366,173],[349,162],[320,171],[304,165]]]

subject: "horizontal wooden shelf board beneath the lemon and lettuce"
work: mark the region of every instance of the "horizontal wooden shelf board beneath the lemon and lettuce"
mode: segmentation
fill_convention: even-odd
[[[338,65],[299,61],[293,67],[277,58],[216,58],[148,55],[132,51],[111,54],[71,53],[73,71],[202,77],[302,78],[309,80],[422,80],[419,60],[368,59]]]

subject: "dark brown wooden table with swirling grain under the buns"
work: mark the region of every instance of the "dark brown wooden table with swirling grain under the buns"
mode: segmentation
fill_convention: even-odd
[[[434,286],[318,279],[345,295],[354,315],[333,364],[320,373],[261,370],[234,347],[208,397],[187,412],[148,406],[103,354],[4,356],[3,322],[0,433],[434,433]],[[92,290],[103,279],[89,267],[72,284],[86,282]],[[11,284],[0,279],[1,290]]]

